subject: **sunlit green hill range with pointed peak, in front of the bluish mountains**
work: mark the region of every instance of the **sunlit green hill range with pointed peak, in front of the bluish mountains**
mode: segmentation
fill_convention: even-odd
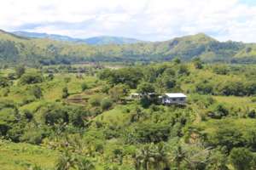
[[[64,38],[65,39],[65,38]],[[256,44],[219,42],[206,34],[176,37],[164,42],[91,45],[56,41],[50,37],[24,37],[0,31],[0,64],[53,65],[86,61],[151,62],[173,58],[206,62],[256,63]]]

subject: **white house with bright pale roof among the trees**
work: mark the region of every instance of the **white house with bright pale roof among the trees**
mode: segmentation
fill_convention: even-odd
[[[186,99],[185,94],[164,94],[160,96],[161,103],[165,105],[185,105]]]

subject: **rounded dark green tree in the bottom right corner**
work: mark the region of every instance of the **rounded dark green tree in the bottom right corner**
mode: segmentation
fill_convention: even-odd
[[[253,154],[246,148],[234,148],[230,152],[230,162],[237,170],[247,170],[251,167]]]

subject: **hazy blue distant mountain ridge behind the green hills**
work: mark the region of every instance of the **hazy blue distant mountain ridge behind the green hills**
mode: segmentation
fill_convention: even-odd
[[[56,41],[79,42],[79,43],[86,43],[90,45],[130,44],[130,43],[143,42],[141,40],[137,40],[134,38],[127,38],[127,37],[102,36],[102,37],[90,37],[90,38],[82,39],[82,38],[61,36],[56,34],[27,32],[27,31],[14,31],[12,33],[20,37],[49,38]]]

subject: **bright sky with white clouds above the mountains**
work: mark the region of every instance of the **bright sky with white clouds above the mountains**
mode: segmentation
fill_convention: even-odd
[[[163,41],[256,42],[256,0],[0,0],[0,29]]]

